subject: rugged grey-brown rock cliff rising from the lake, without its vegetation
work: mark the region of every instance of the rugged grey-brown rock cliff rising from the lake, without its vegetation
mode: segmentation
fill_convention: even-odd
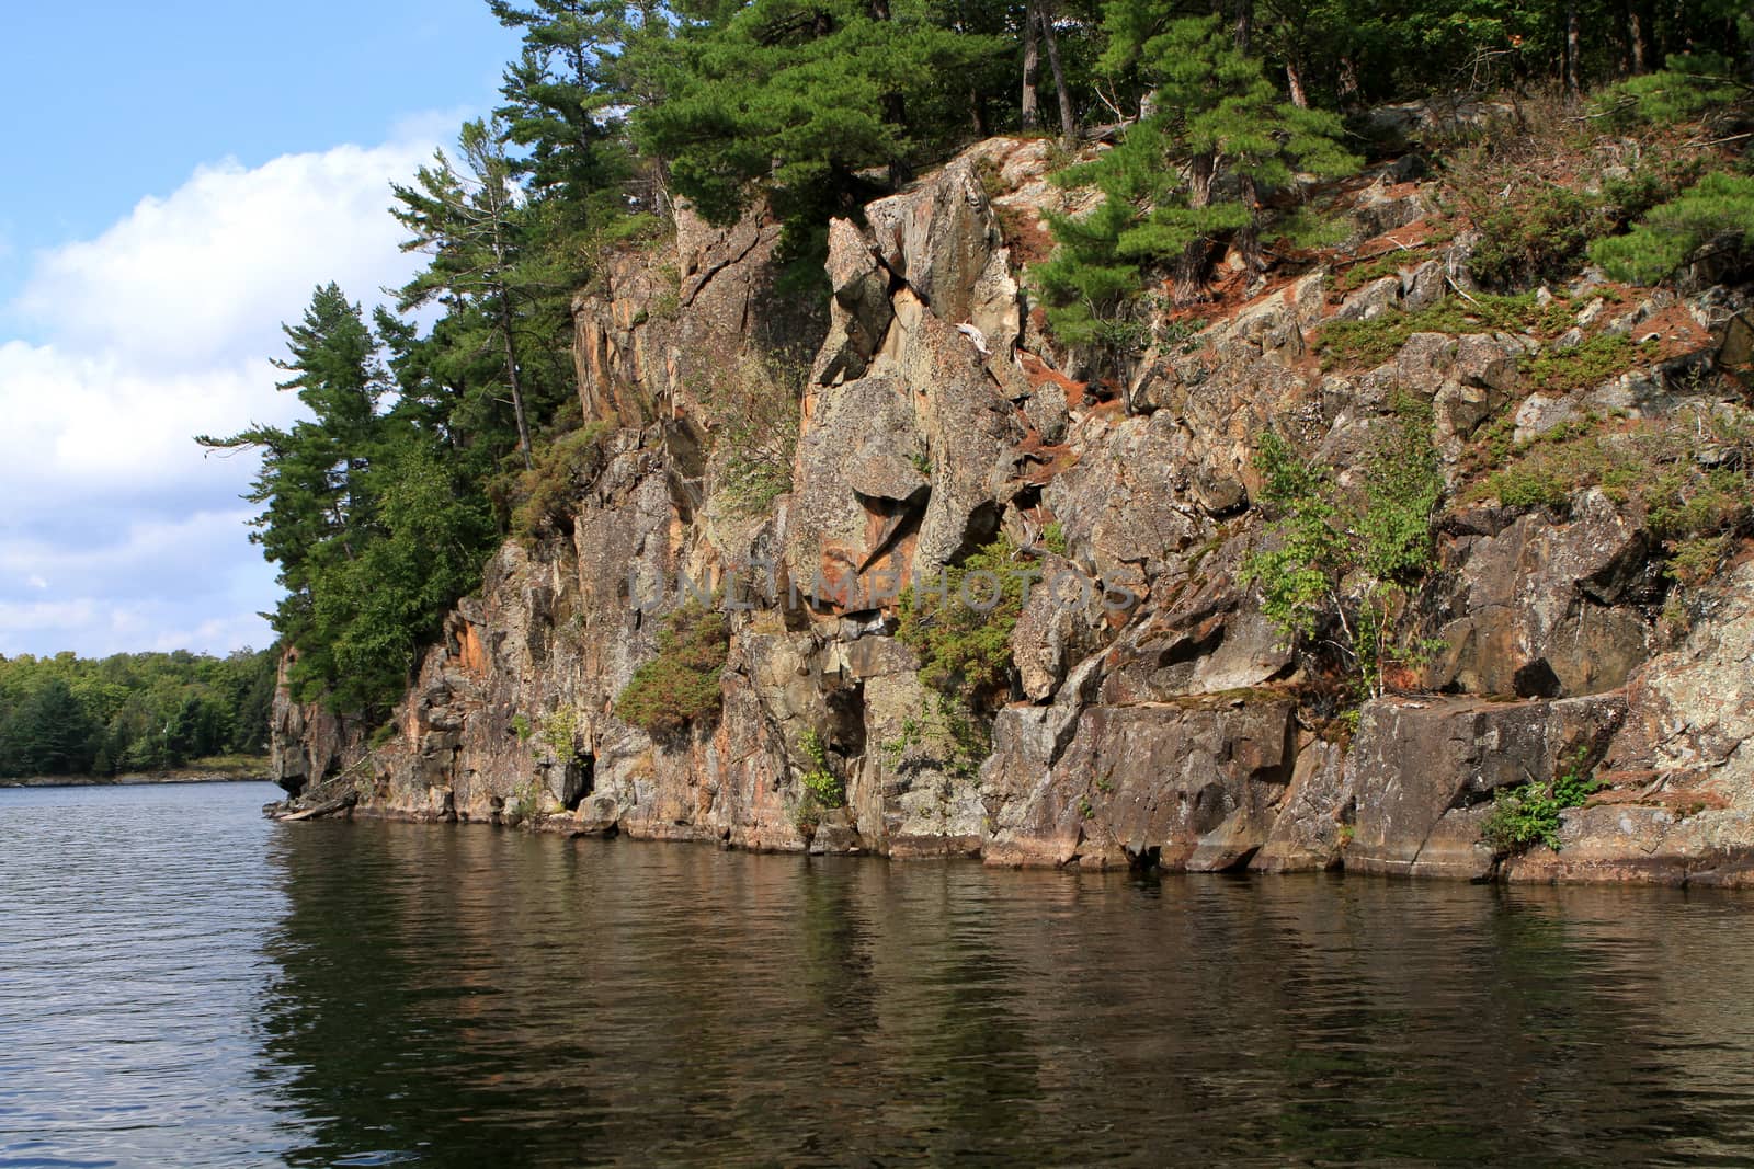
[[[1252,287],[1238,272],[1207,319],[1166,315],[1126,377],[1093,379],[1021,287],[1042,210],[1072,198],[1047,154],[984,142],[835,221],[826,319],[774,291],[761,214],[684,216],[674,245],[581,294],[579,394],[607,435],[589,487],[554,533],[502,547],[391,727],[368,741],[282,696],[295,803],[1005,866],[1754,882],[1754,559],[1728,552],[1682,605],[1658,522],[1612,484],[1565,507],[1470,494],[1494,433],[1563,452],[1586,422],[1745,424],[1738,384],[1700,375],[1735,361],[1719,349],[1745,298],[1584,273],[1540,294],[1551,328],[1330,361],[1333,322],[1472,300],[1468,233],[1435,233],[1430,191],[1382,168],[1340,193],[1345,249]],[[1366,258],[1377,279],[1356,279]],[[1635,345],[1629,368],[1529,377],[1600,337]],[[775,356],[807,372],[791,489],[747,514],[721,491],[712,386]],[[1275,428],[1352,482],[1408,398],[1447,485],[1437,570],[1403,613],[1431,648],[1347,722],[1249,584],[1273,538],[1256,450]],[[984,759],[958,757],[919,731],[935,694],[895,636],[896,589],[1000,538],[1040,584]],[[679,577],[763,573],[774,587],[730,591],[717,715],[670,738],[621,720]],[[1563,813],[1558,848],[1482,843],[1500,789],[1579,766],[1605,787]],[[844,806],[800,815],[824,771]]]

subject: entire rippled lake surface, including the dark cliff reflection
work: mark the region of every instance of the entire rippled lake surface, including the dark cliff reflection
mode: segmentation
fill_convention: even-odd
[[[0,1165],[1754,1164],[1754,897],[0,790]]]

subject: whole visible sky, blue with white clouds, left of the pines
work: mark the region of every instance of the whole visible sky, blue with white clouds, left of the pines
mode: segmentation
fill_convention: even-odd
[[[7,5],[0,654],[267,645],[253,459],[279,322],[402,282],[389,182],[489,110],[482,0]]]

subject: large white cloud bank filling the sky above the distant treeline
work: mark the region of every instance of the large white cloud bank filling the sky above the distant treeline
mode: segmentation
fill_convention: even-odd
[[[454,123],[453,123],[454,124]],[[379,301],[419,265],[389,182],[438,123],[253,170],[202,166],[93,240],[32,259],[0,337],[0,654],[265,645],[274,570],[239,496],[253,456],[193,435],[284,424],[268,363],[310,289]]]

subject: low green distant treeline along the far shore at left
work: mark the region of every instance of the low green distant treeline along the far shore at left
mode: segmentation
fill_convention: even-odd
[[[0,655],[0,776],[163,771],[268,748],[275,650]]]

